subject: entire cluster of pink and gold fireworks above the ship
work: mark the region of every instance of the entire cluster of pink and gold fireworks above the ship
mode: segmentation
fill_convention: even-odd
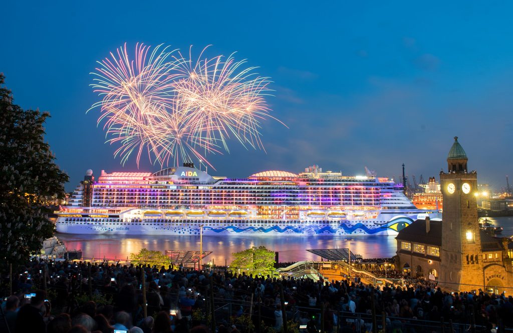
[[[104,123],[108,142],[120,145],[114,155],[123,164],[135,154],[139,165],[146,151],[161,166],[195,159],[211,166],[205,156],[229,152],[231,138],[263,149],[269,78],[233,54],[204,57],[206,49],[193,58],[192,47],[184,57],[162,45],[137,44],[131,58],[125,44],[98,62],[92,87],[102,101],[91,109],[100,109],[98,124]]]

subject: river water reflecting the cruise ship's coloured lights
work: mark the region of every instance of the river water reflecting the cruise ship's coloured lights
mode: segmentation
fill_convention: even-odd
[[[502,236],[513,235],[513,217],[488,218],[494,225],[504,228]],[[81,249],[84,258],[126,259],[130,253],[142,248],[148,250],[200,250],[199,236],[148,236],[148,235],[102,235],[102,234],[57,234],[68,249]],[[393,236],[353,237],[351,252],[363,258],[392,257],[396,254],[396,239]],[[345,237],[297,237],[297,236],[203,236],[203,250],[212,251],[205,260],[215,264],[230,264],[232,253],[252,246],[263,245],[279,251],[281,262],[320,260],[307,249],[347,248]]]

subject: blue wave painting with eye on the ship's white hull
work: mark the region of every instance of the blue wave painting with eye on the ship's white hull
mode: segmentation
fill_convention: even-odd
[[[204,229],[210,230],[210,231],[213,231],[216,233],[221,233],[221,232],[225,232],[225,231],[226,232],[236,232],[236,233],[248,232],[248,231],[267,233],[267,232],[275,231],[275,232],[283,233],[283,232],[290,230],[294,233],[314,232],[316,234],[321,234],[321,233],[325,233],[325,232],[337,233],[337,231],[339,231],[340,229],[343,229],[345,233],[353,233],[354,231],[361,229],[362,231],[364,231],[367,234],[374,234],[377,232],[382,232],[384,229],[392,229],[394,231],[400,231],[400,230],[406,228],[412,222],[413,222],[412,219],[405,217],[405,216],[400,216],[400,217],[391,219],[390,221],[380,225],[377,228],[368,228],[367,226],[365,226],[362,223],[357,223],[355,225],[350,225],[348,223],[341,223],[337,228],[332,228],[330,226],[325,226],[325,227],[321,228],[318,226],[308,226],[308,225],[306,225],[303,228],[302,227],[292,227],[292,226],[286,226],[285,228],[280,228],[277,225],[268,227],[268,228],[264,228],[264,227],[239,228],[239,227],[230,225],[230,226],[227,226],[224,228],[212,228],[209,226],[205,226]]]

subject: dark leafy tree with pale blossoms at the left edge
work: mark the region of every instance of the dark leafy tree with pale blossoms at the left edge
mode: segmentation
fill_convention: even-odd
[[[64,198],[68,175],[44,141],[48,112],[23,110],[0,73],[0,269],[28,260],[52,237],[48,197]]]

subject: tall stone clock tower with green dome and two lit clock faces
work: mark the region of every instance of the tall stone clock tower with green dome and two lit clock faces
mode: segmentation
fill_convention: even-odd
[[[467,155],[454,138],[447,172],[440,172],[443,195],[440,285],[450,290],[483,285],[481,233],[476,203],[477,173],[468,172]]]

